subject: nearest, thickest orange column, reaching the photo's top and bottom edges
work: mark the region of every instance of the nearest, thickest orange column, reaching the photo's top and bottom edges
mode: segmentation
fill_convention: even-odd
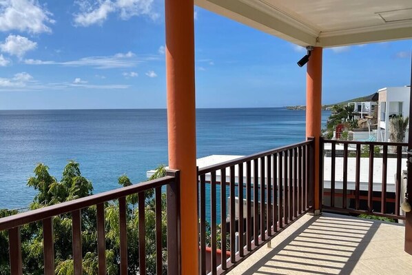
[[[194,2],[165,0],[169,167],[181,170],[181,271],[198,274]]]

